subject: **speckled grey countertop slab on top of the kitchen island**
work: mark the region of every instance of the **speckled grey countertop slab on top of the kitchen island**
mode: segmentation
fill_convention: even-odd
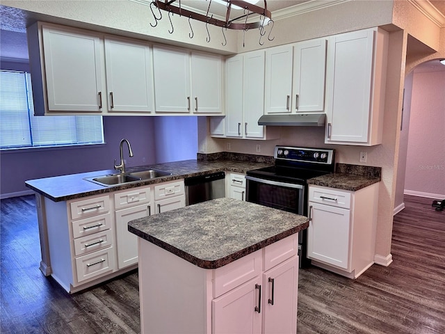
[[[130,221],[130,232],[204,269],[223,267],[309,226],[305,216],[218,198]]]

